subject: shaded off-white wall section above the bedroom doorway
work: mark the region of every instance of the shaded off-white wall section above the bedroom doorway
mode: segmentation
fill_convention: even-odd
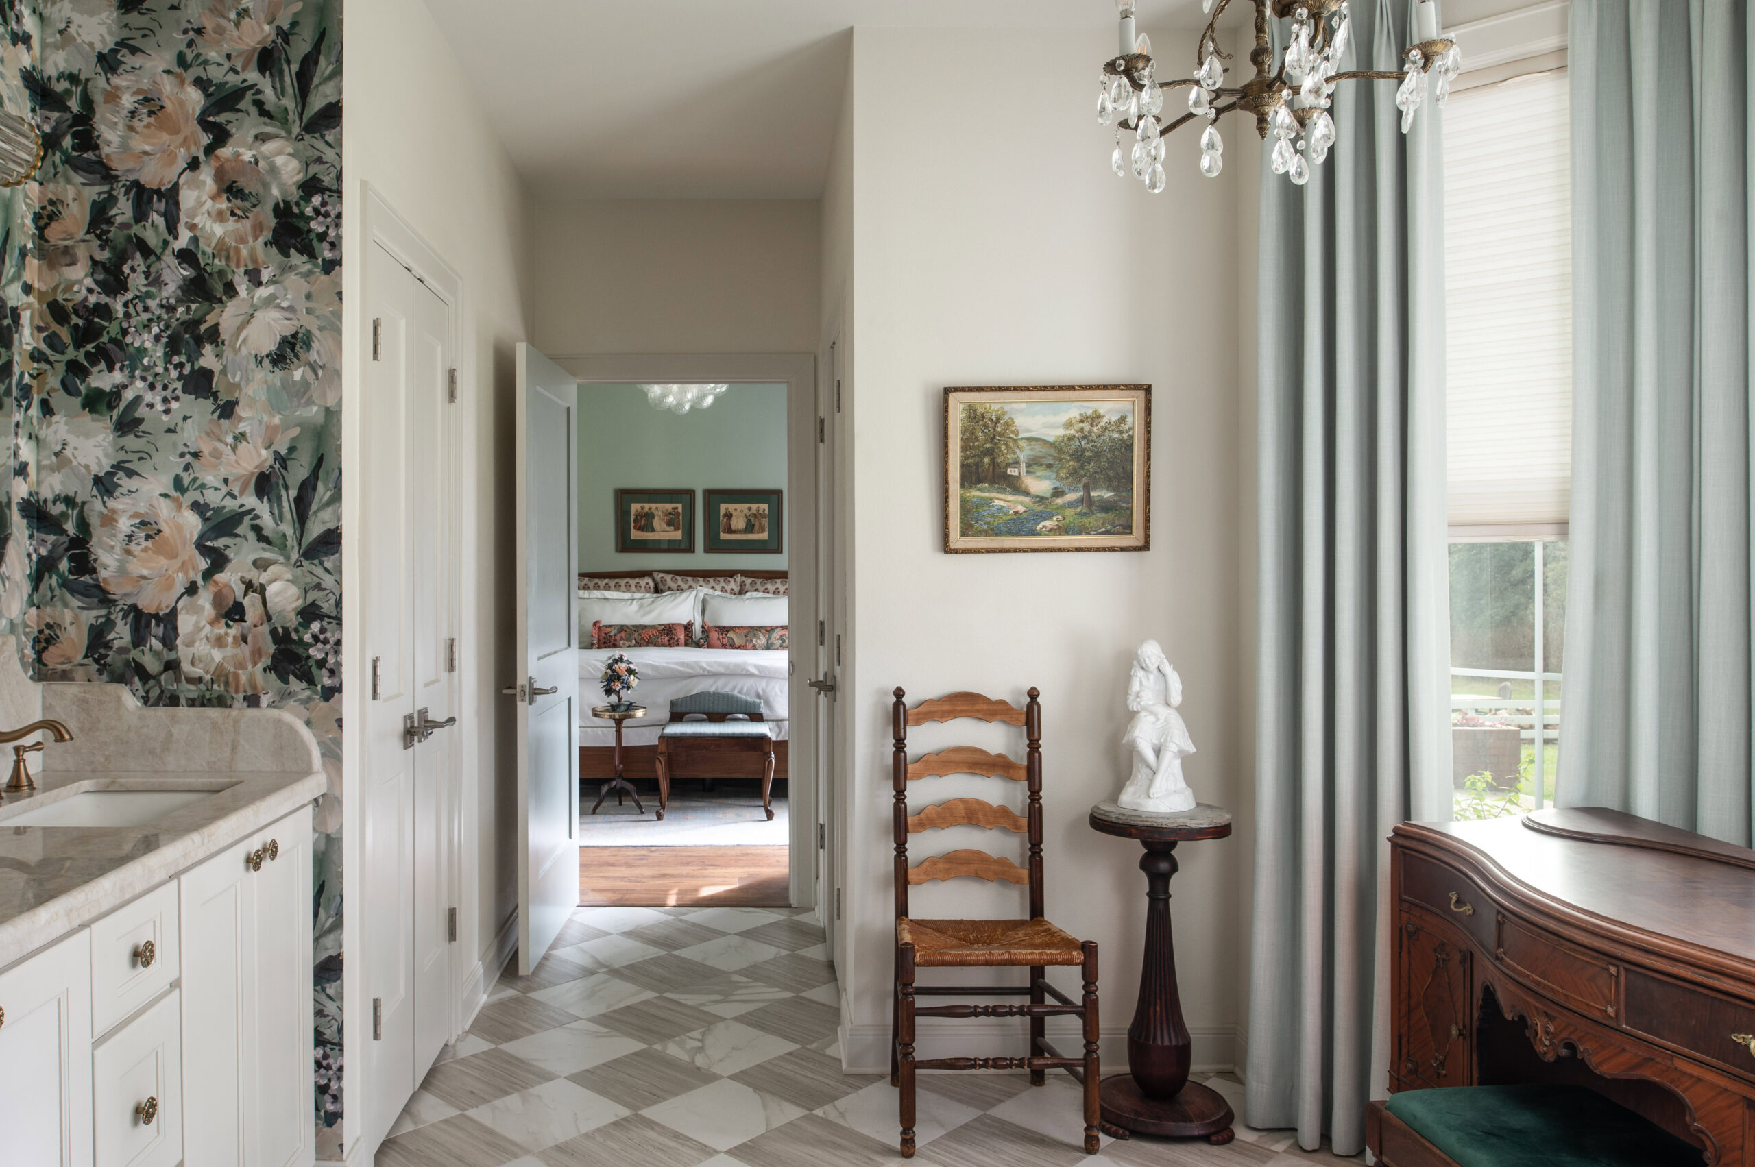
[[[816,200],[539,202],[530,249],[549,356],[816,351]]]

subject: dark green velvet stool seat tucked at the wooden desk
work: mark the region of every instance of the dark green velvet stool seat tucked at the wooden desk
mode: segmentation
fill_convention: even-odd
[[[1367,1142],[1388,1167],[1701,1167],[1699,1148],[1583,1086],[1404,1090],[1372,1102]],[[1418,1139],[1408,1139],[1413,1132]],[[1420,1142],[1429,1144],[1427,1148]],[[1434,1156],[1437,1151],[1439,1156]]]

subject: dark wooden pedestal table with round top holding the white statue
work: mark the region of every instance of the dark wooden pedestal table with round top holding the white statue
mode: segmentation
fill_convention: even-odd
[[[1176,992],[1176,948],[1171,942],[1171,876],[1176,874],[1176,844],[1190,839],[1223,839],[1230,834],[1230,811],[1200,804],[1181,814],[1127,811],[1114,802],[1092,807],[1092,830],[1137,839],[1146,853],[1146,960],[1139,970],[1139,1004],[1127,1030],[1127,1069],[1102,1083],[1106,1134],[1127,1132],[1204,1137],[1230,1142],[1234,1116],[1225,1097],[1188,1081],[1188,1027]]]

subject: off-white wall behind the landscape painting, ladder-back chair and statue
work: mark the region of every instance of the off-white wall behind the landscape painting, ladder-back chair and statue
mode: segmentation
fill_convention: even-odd
[[[1092,832],[1086,814],[1125,776],[1127,667],[1143,637],[1157,637],[1181,670],[1199,797],[1237,804],[1253,783],[1239,663],[1237,458],[1239,402],[1253,386],[1241,377],[1234,326],[1237,170],[1248,167],[1202,179],[1195,135],[1185,130],[1171,140],[1165,193],[1114,177],[1109,132],[1093,119],[1097,63],[1111,51],[1100,32],[855,32],[849,1069],[888,1062],[895,684],[911,702],[951,690],[1021,700],[1027,686],[1042,690],[1048,914],[1102,946],[1111,1060],[1139,983],[1144,877],[1139,848]],[[967,88],[969,100],[946,100],[942,79],[967,77],[971,60],[1004,61],[1007,77],[1027,82],[1007,84],[993,109]],[[1225,133],[1232,156],[1255,147],[1253,125],[1232,121]],[[1155,386],[1151,549],[944,555],[942,388],[1102,383]],[[918,735],[956,741],[942,727]],[[974,779],[914,797],[962,793],[960,781]],[[986,783],[990,798],[1016,797]],[[981,842],[946,837],[934,849]],[[1236,1062],[1248,907],[1241,849],[1236,839],[1183,848],[1172,884],[1197,1065]],[[1021,907],[1021,893],[1004,884],[914,891],[921,916]],[[935,1021],[923,1027],[923,1056],[949,1044],[1000,1053],[1002,1042],[983,1035],[1002,1032],[993,1021]]]

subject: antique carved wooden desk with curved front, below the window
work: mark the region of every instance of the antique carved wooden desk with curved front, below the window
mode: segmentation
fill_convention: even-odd
[[[1604,809],[1390,851],[1392,1092],[1585,1085],[1755,1167],[1755,851]]]

